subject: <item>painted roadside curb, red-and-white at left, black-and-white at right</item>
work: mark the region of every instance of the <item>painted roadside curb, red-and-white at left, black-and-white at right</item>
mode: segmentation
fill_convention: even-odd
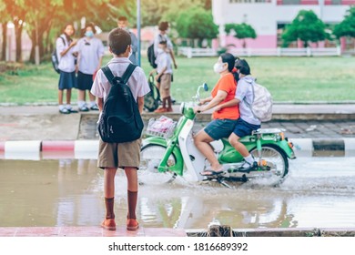
[[[296,157],[320,157],[331,153],[355,157],[355,138],[290,138]],[[5,159],[95,159],[98,140],[23,140],[0,142],[0,158]],[[328,154],[329,156],[329,154]]]

